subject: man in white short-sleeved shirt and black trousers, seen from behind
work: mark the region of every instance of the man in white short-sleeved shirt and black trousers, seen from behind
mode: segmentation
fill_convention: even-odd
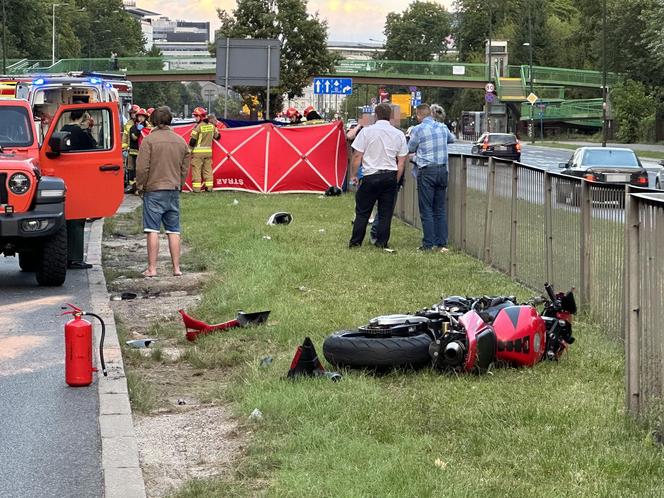
[[[390,124],[389,104],[376,106],[376,124],[365,128],[353,142],[351,159],[352,184],[357,185],[357,172],[362,164],[364,176],[355,194],[355,221],[348,247],[362,245],[374,204],[378,202],[380,223],[376,247],[386,248],[394,214],[394,196],[404,171],[408,146],[404,134]]]

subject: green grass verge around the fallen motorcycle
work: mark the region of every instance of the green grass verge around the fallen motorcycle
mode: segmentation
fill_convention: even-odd
[[[234,204],[233,199],[239,203]],[[266,226],[275,211],[289,226]],[[310,336],[437,302],[442,294],[531,295],[458,252],[420,254],[418,231],[395,221],[388,254],[347,249],[351,196],[184,196],[184,236],[218,275],[193,314],[216,322],[237,309],[272,310],[267,326],[199,341],[196,367],[220,368],[213,397],[233,403],[251,439],[226,477],[192,481],[199,496],[655,496],[664,458],[623,413],[623,354],[596,328],[576,326],[559,363],[482,377],[436,372],[340,383],[284,380]],[[264,238],[269,236],[270,239]],[[191,311],[191,310],[190,310]],[[260,358],[274,358],[268,368]]]

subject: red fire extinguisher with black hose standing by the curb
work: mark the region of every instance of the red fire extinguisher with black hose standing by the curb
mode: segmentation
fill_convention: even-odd
[[[67,306],[72,309],[63,315],[72,315],[74,318],[65,324],[65,382],[72,387],[89,386],[92,384],[92,372],[97,372],[92,366],[92,324],[81,317],[89,315],[101,322],[99,359],[104,376],[108,375],[104,363],[106,324],[99,315],[82,311],[73,304],[67,303]]]

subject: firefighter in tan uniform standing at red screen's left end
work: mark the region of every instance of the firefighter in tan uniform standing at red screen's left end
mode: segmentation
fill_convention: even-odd
[[[200,192],[202,187],[212,192],[214,179],[212,177],[212,142],[219,138],[219,131],[209,122],[207,110],[203,107],[194,109],[193,116],[196,126],[191,132],[189,146],[191,147],[191,187],[194,192]]]

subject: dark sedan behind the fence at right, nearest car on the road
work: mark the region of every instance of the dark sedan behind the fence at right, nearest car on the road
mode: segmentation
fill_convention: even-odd
[[[560,163],[564,175],[583,178],[590,182],[614,185],[648,186],[648,172],[632,149],[623,147],[580,147],[566,163]],[[578,205],[581,184],[559,181],[556,190],[558,202]],[[617,201],[623,200],[618,192]],[[622,204],[622,202],[620,202]]]

